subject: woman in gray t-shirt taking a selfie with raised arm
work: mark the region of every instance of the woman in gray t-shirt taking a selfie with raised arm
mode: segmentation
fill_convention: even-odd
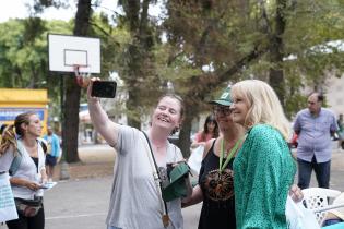
[[[98,98],[91,96],[93,81],[87,89],[92,123],[118,153],[106,220],[108,229],[182,229],[181,198],[169,202],[162,198],[161,183],[153,162],[155,158],[158,173],[162,174],[166,173],[167,164],[177,164],[183,159],[180,149],[167,140],[181,124],[185,112],[181,98],[168,94],[158,99],[146,138],[138,129],[109,120]],[[167,176],[159,178],[165,183]],[[192,188],[188,178],[185,178],[185,184],[190,195]]]

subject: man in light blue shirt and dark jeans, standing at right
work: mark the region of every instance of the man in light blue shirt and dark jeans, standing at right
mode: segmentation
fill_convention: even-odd
[[[298,186],[309,186],[311,171],[315,170],[318,185],[330,188],[331,136],[337,131],[334,113],[322,108],[323,96],[311,93],[308,108],[296,114],[294,131],[298,135],[297,164]]]

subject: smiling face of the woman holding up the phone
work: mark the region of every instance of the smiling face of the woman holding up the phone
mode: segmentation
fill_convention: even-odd
[[[152,118],[152,126],[171,132],[181,122],[181,104],[177,98],[165,96],[157,104]]]

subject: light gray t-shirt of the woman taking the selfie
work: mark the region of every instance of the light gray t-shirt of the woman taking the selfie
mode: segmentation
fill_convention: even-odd
[[[166,145],[167,159],[158,167],[182,159],[177,146],[168,141]],[[122,229],[164,229],[161,194],[153,178],[154,167],[150,162],[151,152],[144,134],[134,128],[121,125],[115,148],[118,156],[107,225]],[[168,229],[182,229],[180,198],[168,202],[167,208],[170,218]]]

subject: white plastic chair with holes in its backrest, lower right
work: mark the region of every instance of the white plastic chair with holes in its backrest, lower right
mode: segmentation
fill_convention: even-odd
[[[332,201],[337,197],[341,192],[337,190],[322,189],[322,188],[308,188],[303,190],[304,204],[308,209],[312,209],[316,218],[321,226],[325,219],[327,210],[341,207],[342,205],[330,205]]]

